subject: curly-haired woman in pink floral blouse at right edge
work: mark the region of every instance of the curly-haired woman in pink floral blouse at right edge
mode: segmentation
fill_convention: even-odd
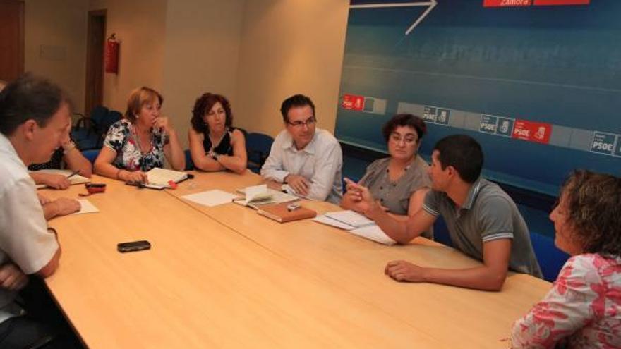
[[[550,219],[572,257],[515,322],[512,348],[621,348],[621,178],[575,171]]]

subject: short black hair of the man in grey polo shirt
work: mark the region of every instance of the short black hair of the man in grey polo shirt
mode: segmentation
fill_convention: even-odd
[[[433,150],[438,150],[442,169],[453,166],[466,183],[474,183],[481,176],[483,150],[473,137],[450,135],[435,143]]]

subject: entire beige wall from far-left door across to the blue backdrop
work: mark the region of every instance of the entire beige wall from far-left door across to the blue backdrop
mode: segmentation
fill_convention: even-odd
[[[121,42],[104,105],[123,112],[133,88],[161,91],[183,147],[202,92],[227,96],[235,125],[270,135],[282,129],[282,100],[308,94],[319,127],[334,130],[349,0],[27,0],[26,69],[61,83],[80,111],[87,13],[99,9]],[[66,55],[40,59],[41,45]]]

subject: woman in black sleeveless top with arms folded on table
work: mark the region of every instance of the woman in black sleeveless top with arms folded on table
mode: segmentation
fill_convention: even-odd
[[[196,99],[188,133],[192,161],[203,171],[246,171],[246,140],[232,127],[229,101],[220,94],[205,93]]]

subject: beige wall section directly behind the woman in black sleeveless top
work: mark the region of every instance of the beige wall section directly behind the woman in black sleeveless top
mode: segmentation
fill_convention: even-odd
[[[236,78],[245,0],[169,1],[164,47],[164,114],[188,147],[194,102],[223,94],[236,115]]]

